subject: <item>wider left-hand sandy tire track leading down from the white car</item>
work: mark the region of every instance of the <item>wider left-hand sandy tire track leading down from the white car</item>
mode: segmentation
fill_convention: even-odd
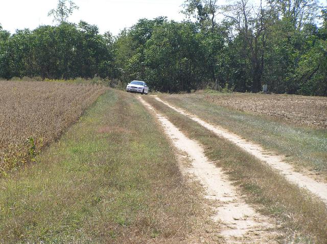
[[[215,212],[213,221],[220,224],[219,233],[227,243],[277,243],[274,220],[256,212],[240,197],[238,189],[227,176],[204,155],[204,150],[191,140],[166,117],[158,114],[143,98],[141,102],[157,117],[174,146],[188,154],[191,167],[183,171],[194,175],[206,189],[206,198]]]

